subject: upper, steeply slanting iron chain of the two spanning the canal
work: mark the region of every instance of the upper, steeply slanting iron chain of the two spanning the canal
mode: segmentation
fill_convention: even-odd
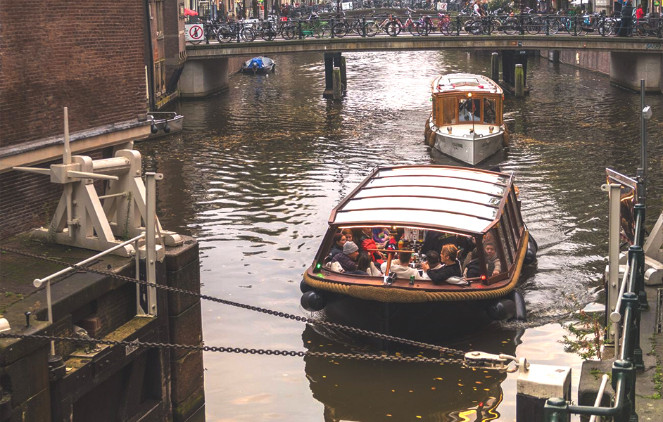
[[[335,328],[337,330],[347,331],[349,333],[365,335],[367,337],[379,338],[381,340],[389,340],[389,341],[392,341],[394,343],[401,343],[401,344],[405,344],[405,345],[420,347],[422,349],[435,350],[435,351],[438,351],[438,352],[441,352],[441,353],[443,352],[443,353],[447,353],[447,354],[455,355],[455,356],[459,356],[459,357],[462,357],[462,356],[465,355],[465,352],[463,352],[462,350],[456,350],[456,349],[451,349],[449,347],[431,345],[429,343],[422,343],[422,342],[415,341],[415,340],[408,340],[407,338],[400,338],[400,337],[395,337],[393,335],[386,335],[386,334],[376,333],[374,331],[362,330],[360,328],[355,328],[355,327],[351,327],[351,326],[344,326],[342,324],[336,324],[336,323],[330,322],[330,321],[322,321],[320,319],[312,319],[312,318],[306,318],[305,316],[287,314],[285,312],[274,311],[272,309],[267,309],[267,308],[263,308],[263,307],[257,307],[257,306],[253,306],[253,305],[246,305],[244,303],[232,302],[231,300],[215,298],[213,296],[203,295],[201,293],[196,293],[196,292],[192,292],[192,291],[189,291],[189,290],[183,290],[181,288],[163,286],[163,285],[160,285],[160,284],[152,284],[152,283],[149,283],[147,281],[132,279],[132,277],[120,276],[120,274],[115,274],[111,271],[103,271],[103,270],[100,270],[100,269],[91,269],[91,268],[87,268],[87,267],[81,267],[79,265],[70,264],[68,262],[64,262],[64,261],[60,261],[60,260],[54,260],[53,258],[44,257],[44,256],[41,256],[41,255],[35,255],[35,254],[29,253],[29,252],[23,252],[23,251],[20,251],[20,250],[15,250],[15,249],[5,248],[5,247],[0,247],[0,250],[3,250],[5,252],[15,253],[17,255],[23,255],[23,256],[26,256],[26,257],[33,257],[33,258],[36,258],[38,260],[53,262],[54,264],[65,265],[66,267],[72,267],[72,268],[75,268],[75,269],[78,269],[78,270],[81,270],[81,271],[86,271],[86,272],[90,272],[90,273],[94,273],[94,274],[99,274],[99,275],[102,275],[102,276],[109,276],[109,277],[112,277],[112,278],[118,279],[118,280],[130,281],[132,283],[137,283],[137,284],[140,284],[142,286],[155,287],[155,288],[159,288],[161,290],[166,290],[166,291],[173,292],[173,293],[181,293],[183,295],[195,296],[196,298],[200,298],[200,299],[203,299],[203,300],[209,300],[210,302],[222,303],[223,305],[230,305],[230,306],[239,307],[239,308],[242,308],[242,309],[249,309],[249,310],[255,311],[255,312],[262,312],[263,314],[279,316],[281,318],[286,318],[286,319],[293,319],[295,321],[301,321],[305,324]]]

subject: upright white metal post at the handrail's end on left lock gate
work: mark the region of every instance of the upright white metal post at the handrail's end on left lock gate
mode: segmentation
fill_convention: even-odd
[[[145,273],[147,282],[156,284],[156,181],[163,179],[163,174],[146,173],[145,190]],[[148,314],[157,315],[156,288],[147,289]]]

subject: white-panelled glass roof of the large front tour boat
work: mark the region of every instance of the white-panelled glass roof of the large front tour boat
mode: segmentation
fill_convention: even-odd
[[[329,224],[483,233],[499,217],[511,181],[510,174],[463,167],[379,168],[334,208]]]

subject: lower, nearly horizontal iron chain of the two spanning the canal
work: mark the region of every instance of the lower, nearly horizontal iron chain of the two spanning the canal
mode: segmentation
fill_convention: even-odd
[[[392,356],[381,354],[362,354],[362,353],[335,353],[335,352],[303,352],[296,350],[271,350],[271,349],[247,349],[246,347],[223,347],[223,346],[204,346],[204,345],[174,345],[170,343],[149,343],[127,340],[97,340],[94,338],[78,337],[58,337],[57,335],[38,335],[38,334],[11,334],[0,333],[1,338],[21,338],[46,341],[67,341],[70,343],[91,343],[94,345],[111,346],[130,346],[130,347],[156,347],[158,349],[184,349],[201,350],[203,352],[219,353],[239,353],[239,354],[266,354],[267,356],[291,356],[291,357],[324,357],[331,359],[357,359],[365,361],[385,361],[385,362],[416,362],[422,364],[448,364],[455,363],[465,366],[463,359],[443,359],[434,357],[408,357]]]

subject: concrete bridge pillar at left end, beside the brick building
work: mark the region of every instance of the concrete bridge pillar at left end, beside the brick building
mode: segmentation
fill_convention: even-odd
[[[201,98],[228,89],[228,58],[187,60],[179,89],[182,98]]]

